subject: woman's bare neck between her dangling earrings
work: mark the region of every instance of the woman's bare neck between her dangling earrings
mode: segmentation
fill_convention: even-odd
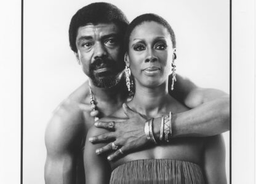
[[[168,93],[168,81],[156,88],[148,88],[135,83],[136,90],[130,107],[146,117],[155,117],[166,109],[171,99]]]

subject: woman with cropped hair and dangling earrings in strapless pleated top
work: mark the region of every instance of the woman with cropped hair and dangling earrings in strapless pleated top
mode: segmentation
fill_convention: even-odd
[[[134,98],[127,104],[145,117],[165,115],[168,119],[170,111],[188,110],[168,93],[168,76],[175,66],[175,44],[172,28],[158,15],[140,15],[127,29],[125,62],[135,83]],[[175,80],[175,67],[172,74]],[[129,82],[127,84],[129,86]],[[113,117],[126,118],[126,114],[119,109]],[[171,139],[167,143],[168,137],[151,134],[150,121],[145,124],[145,139],[162,144],[149,145],[145,150],[124,155],[116,161],[96,155],[95,150],[104,144],[90,144],[87,138],[84,151],[86,183],[226,183],[225,146],[220,135]],[[166,133],[164,127],[167,125],[162,123],[161,126]],[[167,131],[171,133],[171,128]],[[92,127],[87,137],[103,132],[106,130]],[[113,145],[122,152],[120,143]]]

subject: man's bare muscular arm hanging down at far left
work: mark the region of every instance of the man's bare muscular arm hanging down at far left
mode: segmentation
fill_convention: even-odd
[[[44,178],[47,184],[76,182],[76,154],[81,148],[82,116],[78,107],[64,103],[54,113],[46,128],[47,158]]]

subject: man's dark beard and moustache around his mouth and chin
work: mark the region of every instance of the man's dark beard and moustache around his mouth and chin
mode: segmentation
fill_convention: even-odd
[[[95,74],[95,70],[104,67],[108,67],[111,70]],[[116,86],[121,80],[121,72],[121,66],[111,59],[98,58],[89,66],[89,77],[98,88],[112,88]]]

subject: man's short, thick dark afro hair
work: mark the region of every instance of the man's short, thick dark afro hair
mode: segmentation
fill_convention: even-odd
[[[70,29],[68,31],[70,47],[74,52],[78,52],[78,48],[76,48],[78,28],[88,23],[92,23],[93,25],[97,25],[98,23],[115,23],[123,36],[129,25],[126,15],[113,4],[94,2],[82,7],[71,18]]]

